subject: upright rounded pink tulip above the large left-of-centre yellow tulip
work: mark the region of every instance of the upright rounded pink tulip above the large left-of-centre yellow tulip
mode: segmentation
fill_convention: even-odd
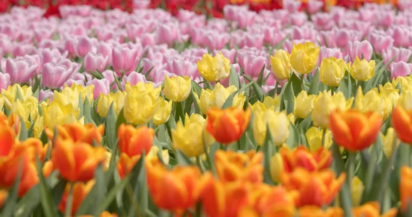
[[[117,76],[122,76],[122,74],[128,74],[134,71],[139,63],[139,53],[138,49],[129,49],[127,47],[113,47],[112,61],[113,69]]]

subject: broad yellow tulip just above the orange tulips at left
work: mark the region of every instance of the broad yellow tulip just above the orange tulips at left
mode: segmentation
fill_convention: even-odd
[[[63,105],[53,101],[48,106],[42,104],[43,126],[54,129],[56,125],[80,123],[84,124],[84,117],[78,120],[80,109],[75,110],[71,104]]]

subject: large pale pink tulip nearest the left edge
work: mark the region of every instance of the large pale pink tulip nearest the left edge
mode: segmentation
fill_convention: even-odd
[[[5,63],[5,73],[10,75],[10,82],[12,82],[12,84],[23,84],[34,76],[37,67],[36,60],[29,56],[18,57],[14,60],[8,58]]]

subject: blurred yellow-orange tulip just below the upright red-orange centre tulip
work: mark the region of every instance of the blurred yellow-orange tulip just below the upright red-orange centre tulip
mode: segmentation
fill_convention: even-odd
[[[263,154],[250,150],[246,153],[231,150],[217,150],[215,153],[215,166],[220,181],[249,181],[260,183],[263,181]]]

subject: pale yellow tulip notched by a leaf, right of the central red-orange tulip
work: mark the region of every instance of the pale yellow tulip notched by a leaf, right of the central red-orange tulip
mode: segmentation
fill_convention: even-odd
[[[290,121],[284,111],[266,110],[254,113],[253,137],[259,146],[264,145],[266,130],[271,133],[275,146],[282,145],[289,137]]]

